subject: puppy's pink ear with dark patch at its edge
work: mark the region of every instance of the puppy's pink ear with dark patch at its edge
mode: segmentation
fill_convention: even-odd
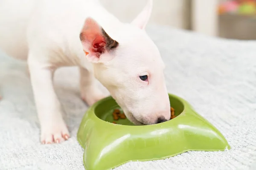
[[[101,55],[116,48],[119,43],[113,40],[92,18],[87,18],[80,33],[85,55],[90,62],[98,62]]]

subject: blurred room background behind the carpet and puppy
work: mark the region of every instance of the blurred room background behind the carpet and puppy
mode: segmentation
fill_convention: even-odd
[[[119,20],[130,22],[147,0],[101,0]],[[256,0],[154,0],[150,24],[209,36],[256,40]]]

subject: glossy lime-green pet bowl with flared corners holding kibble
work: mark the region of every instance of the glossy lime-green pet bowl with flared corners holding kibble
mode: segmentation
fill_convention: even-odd
[[[113,124],[112,112],[119,106],[111,96],[92,105],[77,133],[85,169],[108,170],[128,161],[165,159],[189,150],[230,149],[224,136],[188,102],[172,94],[169,99],[177,117],[155,125],[135,126],[128,119]]]

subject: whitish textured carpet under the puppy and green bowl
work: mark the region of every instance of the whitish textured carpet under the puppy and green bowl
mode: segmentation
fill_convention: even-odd
[[[256,41],[215,39],[157,26],[149,27],[148,34],[166,63],[168,91],[186,99],[215,125],[231,150],[129,162],[116,170],[255,170]],[[77,69],[62,68],[55,75],[72,137],[51,145],[39,142],[25,70],[24,63],[0,55],[0,170],[83,170],[76,132],[87,106],[79,98]]]

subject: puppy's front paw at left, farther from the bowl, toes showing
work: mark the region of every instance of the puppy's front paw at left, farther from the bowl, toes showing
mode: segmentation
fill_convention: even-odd
[[[60,143],[70,138],[67,125],[64,121],[50,123],[41,126],[41,143]]]

